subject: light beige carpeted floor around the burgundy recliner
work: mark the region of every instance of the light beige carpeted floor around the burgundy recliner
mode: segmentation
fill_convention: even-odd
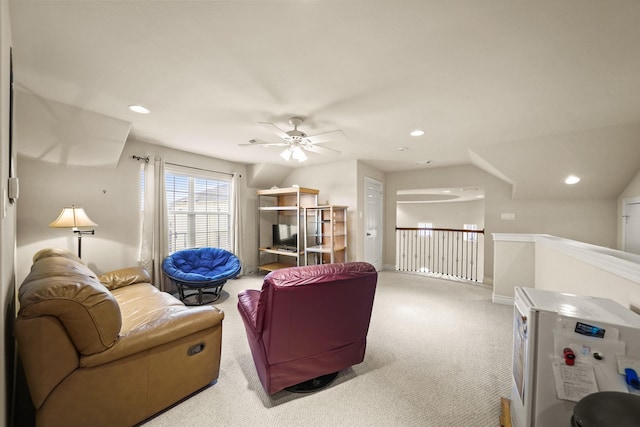
[[[319,392],[268,396],[236,308],[239,291],[261,285],[230,281],[216,303],[225,312],[218,382],[145,427],[500,425],[513,309],[491,303],[489,287],[381,272],[364,362]]]

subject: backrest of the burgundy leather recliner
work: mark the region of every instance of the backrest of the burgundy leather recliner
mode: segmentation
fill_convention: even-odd
[[[257,310],[269,363],[366,339],[376,283],[377,272],[368,263],[324,264],[269,273]]]

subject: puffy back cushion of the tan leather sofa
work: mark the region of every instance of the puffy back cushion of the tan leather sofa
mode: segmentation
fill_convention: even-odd
[[[38,252],[19,298],[20,317],[57,317],[82,355],[106,350],[120,333],[122,318],[115,298],[67,251]]]

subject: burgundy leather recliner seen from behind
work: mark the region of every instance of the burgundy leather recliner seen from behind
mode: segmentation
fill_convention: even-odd
[[[378,280],[365,262],[269,273],[238,295],[258,376],[268,394],[364,360]]]

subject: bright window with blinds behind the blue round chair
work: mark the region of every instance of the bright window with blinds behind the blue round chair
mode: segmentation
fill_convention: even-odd
[[[231,250],[230,178],[167,168],[165,191],[169,253],[204,246]]]

